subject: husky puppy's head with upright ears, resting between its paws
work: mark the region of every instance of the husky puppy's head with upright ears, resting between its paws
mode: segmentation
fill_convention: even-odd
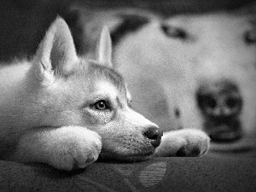
[[[145,160],[162,132],[131,109],[124,79],[111,67],[112,47],[102,30],[98,60],[79,58],[64,20],[57,18],[40,44],[27,75],[38,125],[84,126],[102,137],[102,158]],[[86,136],[84,136],[86,137]]]

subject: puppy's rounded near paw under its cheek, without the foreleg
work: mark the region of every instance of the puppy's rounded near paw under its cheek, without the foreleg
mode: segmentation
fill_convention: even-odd
[[[84,127],[61,127],[55,137],[57,141],[49,164],[57,169],[84,168],[98,159],[102,149],[101,137]]]

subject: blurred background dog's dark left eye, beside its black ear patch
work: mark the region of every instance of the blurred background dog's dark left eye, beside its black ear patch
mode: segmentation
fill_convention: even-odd
[[[186,39],[188,38],[187,32],[185,32],[181,28],[177,28],[174,26],[167,26],[163,24],[161,26],[162,31],[166,34],[166,36],[170,38],[180,38],[180,39]]]

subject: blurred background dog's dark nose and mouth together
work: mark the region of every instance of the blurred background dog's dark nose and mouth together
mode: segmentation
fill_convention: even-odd
[[[202,84],[196,92],[196,101],[212,142],[235,142],[242,137],[239,116],[243,103],[236,84],[227,79]]]

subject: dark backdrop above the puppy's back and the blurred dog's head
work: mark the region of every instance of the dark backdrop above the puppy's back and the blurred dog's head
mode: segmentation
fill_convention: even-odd
[[[56,15],[72,25],[68,8],[79,3],[89,9],[143,8],[161,15],[236,9],[254,0],[2,0],[0,3],[0,61],[32,55]]]

